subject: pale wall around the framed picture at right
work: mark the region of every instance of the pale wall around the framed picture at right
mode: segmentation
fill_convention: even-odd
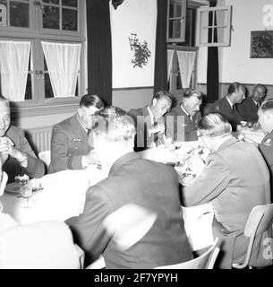
[[[273,97],[273,58],[250,58],[252,30],[273,30],[265,27],[263,12],[269,0],[221,0],[220,4],[233,6],[231,46],[219,48],[220,95],[226,92],[226,85],[232,82],[246,83],[250,91],[255,83],[268,85],[269,97]],[[200,48],[198,83],[207,82],[207,48]],[[270,96],[271,95],[271,96]]]

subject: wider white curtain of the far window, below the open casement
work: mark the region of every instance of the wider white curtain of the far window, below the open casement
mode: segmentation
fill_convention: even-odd
[[[183,89],[189,88],[196,52],[177,51],[181,83]]]

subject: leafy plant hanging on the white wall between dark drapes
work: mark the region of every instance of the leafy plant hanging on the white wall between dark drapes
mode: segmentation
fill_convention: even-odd
[[[135,68],[136,66],[142,68],[143,65],[148,64],[148,59],[151,55],[150,50],[148,48],[147,41],[143,41],[141,44],[140,40],[137,38],[137,34],[131,34],[131,38],[129,37],[131,49],[134,51],[132,64]]]

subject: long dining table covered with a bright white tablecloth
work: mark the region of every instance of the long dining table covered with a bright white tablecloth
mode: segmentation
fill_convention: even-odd
[[[139,152],[143,159],[168,164],[189,149],[200,146],[199,141],[159,145]],[[0,201],[4,213],[10,214],[19,224],[41,221],[65,221],[82,213],[85,194],[89,187],[107,178],[104,170],[91,165],[85,170],[62,170],[31,179],[33,192],[30,199],[21,197],[20,185],[16,182],[5,187]],[[213,210],[210,204],[181,207],[183,222],[193,250],[208,247],[213,243],[211,222]]]

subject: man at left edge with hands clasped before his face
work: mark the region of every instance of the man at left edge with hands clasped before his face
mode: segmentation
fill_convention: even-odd
[[[26,174],[30,178],[41,178],[45,166],[30,147],[23,130],[11,126],[10,103],[0,95],[0,160],[3,170],[8,175],[8,182],[13,182],[17,175]]]

